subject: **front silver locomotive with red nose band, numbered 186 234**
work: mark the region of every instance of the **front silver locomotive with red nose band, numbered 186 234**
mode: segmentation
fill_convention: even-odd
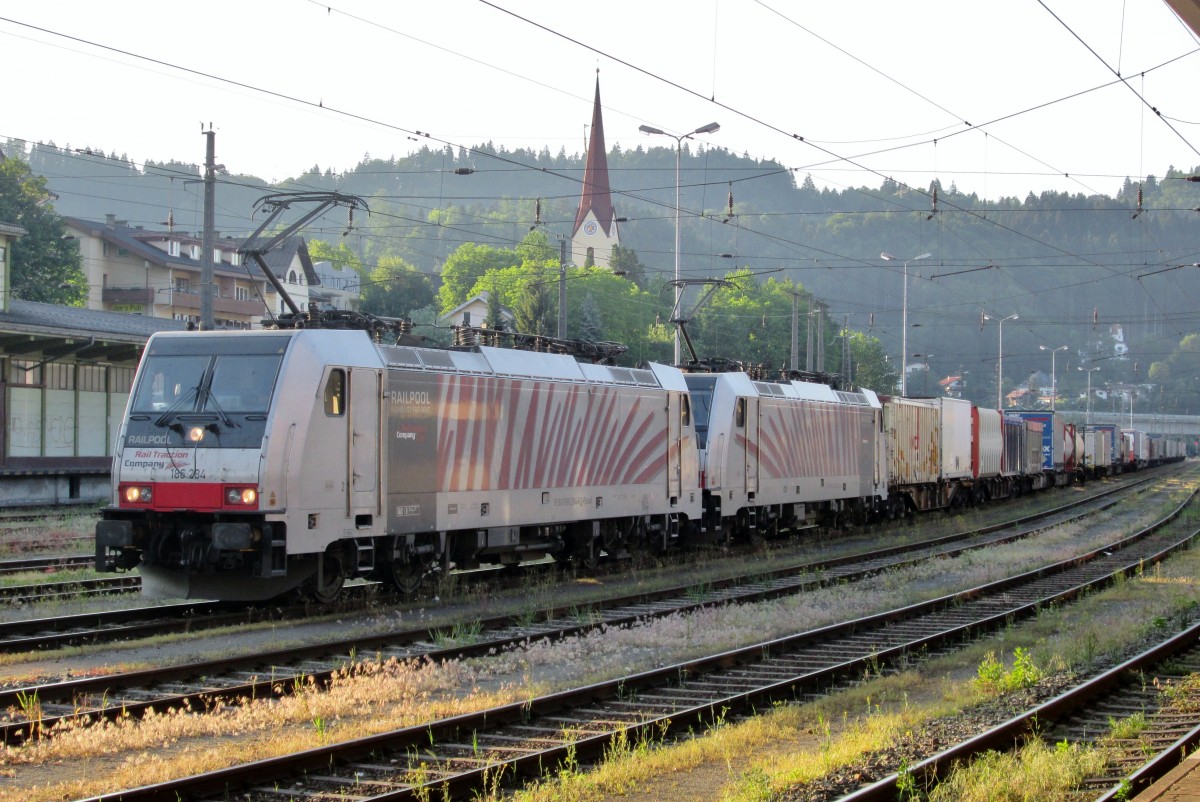
[[[361,331],[156,335],[115,454],[97,569],[160,597],[588,562],[665,549],[701,510],[679,371]]]

